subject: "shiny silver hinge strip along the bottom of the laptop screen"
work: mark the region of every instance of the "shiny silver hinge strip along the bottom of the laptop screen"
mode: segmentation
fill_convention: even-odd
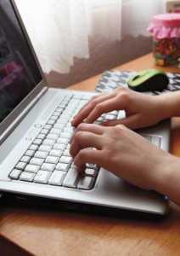
[[[6,131],[3,132],[3,134],[0,136],[0,145],[3,143],[3,141],[8,137],[8,135],[11,133],[11,131],[14,131],[14,128],[20,124],[20,121],[22,119],[25,118],[26,114],[29,113],[31,111],[31,109],[37,104],[37,102],[39,101],[39,99],[46,93],[46,91],[48,90],[48,87],[44,87],[39,93],[38,95],[31,101],[30,104],[28,104],[28,106],[23,110],[22,113],[20,113],[20,115],[14,119],[14,122],[8,126],[8,128],[6,129]]]

